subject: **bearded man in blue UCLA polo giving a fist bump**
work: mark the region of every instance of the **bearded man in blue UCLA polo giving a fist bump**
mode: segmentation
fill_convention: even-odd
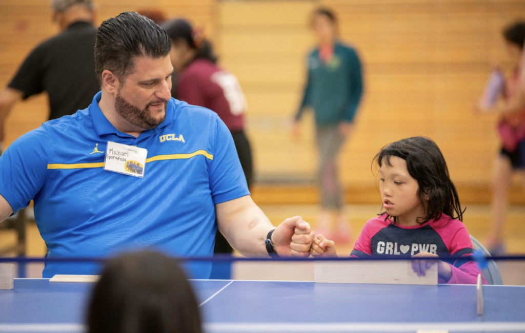
[[[245,255],[308,256],[310,225],[300,217],[271,225],[249,196],[217,114],[171,99],[170,50],[164,30],[137,13],[102,23],[102,91],[88,109],[44,123],[0,157],[0,220],[34,198],[50,258],[144,247],[207,256],[217,227]],[[143,165],[140,175],[125,170],[128,160]],[[211,263],[188,268],[207,278]],[[43,275],[95,272],[51,262]]]

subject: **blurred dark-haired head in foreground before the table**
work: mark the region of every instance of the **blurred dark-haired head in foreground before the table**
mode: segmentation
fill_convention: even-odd
[[[177,261],[153,251],[107,262],[93,289],[89,333],[201,333],[190,282]]]

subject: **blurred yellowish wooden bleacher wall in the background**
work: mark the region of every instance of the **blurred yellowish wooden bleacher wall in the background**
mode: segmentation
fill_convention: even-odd
[[[346,200],[377,202],[371,160],[397,139],[426,135],[442,148],[466,203],[488,203],[498,138],[493,116],[471,112],[492,63],[510,71],[501,29],[525,19],[522,0],[116,0],[99,2],[98,22],[124,10],[165,9],[204,27],[220,63],[237,75],[249,111],[260,203],[312,203],[316,152],[311,116],[303,137],[289,126],[313,46],[308,27],[313,8],[326,5],[340,18],[341,38],[363,62],[365,95],[355,131],[340,158]],[[0,85],[39,41],[57,33],[48,2],[0,3]],[[47,116],[45,96],[18,104],[8,120],[5,144],[38,127]],[[516,180],[511,202],[525,203]]]

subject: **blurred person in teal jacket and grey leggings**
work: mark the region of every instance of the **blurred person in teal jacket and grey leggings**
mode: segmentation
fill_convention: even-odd
[[[307,108],[313,110],[319,151],[321,213],[318,233],[332,233],[339,242],[350,240],[350,225],[342,210],[343,196],[336,159],[352,132],[355,113],[363,91],[361,63],[355,50],[338,38],[337,18],[327,8],[312,15],[312,28],[318,46],[308,55],[308,79],[301,105],[295,116],[293,132],[299,135],[299,122]]]

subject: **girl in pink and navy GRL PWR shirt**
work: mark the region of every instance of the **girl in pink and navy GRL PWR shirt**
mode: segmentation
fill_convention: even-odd
[[[439,283],[476,284],[476,262],[436,260],[470,256],[470,235],[443,154],[426,137],[411,137],[385,146],[374,157],[385,212],[366,222],[351,256],[406,256],[419,276],[438,265]],[[335,243],[317,235],[313,256],[336,256]],[[486,283],[485,279],[483,282]]]

